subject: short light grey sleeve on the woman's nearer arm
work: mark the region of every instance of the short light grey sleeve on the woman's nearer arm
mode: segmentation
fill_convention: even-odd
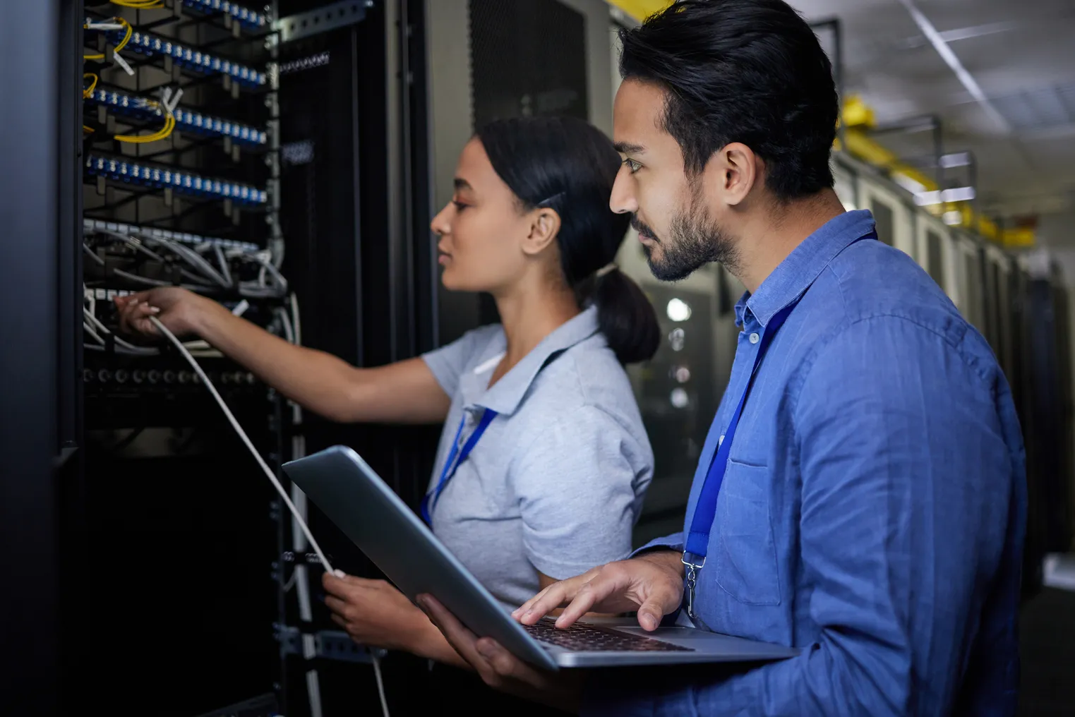
[[[508,479],[527,558],[556,579],[626,558],[653,473],[640,445],[611,415],[583,406],[535,431]]]

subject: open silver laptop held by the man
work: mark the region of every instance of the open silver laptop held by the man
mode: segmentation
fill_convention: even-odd
[[[646,632],[634,618],[586,618],[564,630],[551,619],[522,626],[350,448],[327,448],[285,463],[284,472],[407,598],[435,597],[475,634],[536,666],[749,662],[799,654],[693,627]]]

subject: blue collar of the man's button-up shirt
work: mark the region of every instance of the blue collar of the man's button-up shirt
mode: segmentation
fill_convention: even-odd
[[[761,326],[768,325],[778,311],[798,299],[841,252],[873,229],[873,215],[868,210],[845,212],[829,219],[765,277],[757,292],[743,295],[735,304],[736,322],[742,325],[749,310]]]

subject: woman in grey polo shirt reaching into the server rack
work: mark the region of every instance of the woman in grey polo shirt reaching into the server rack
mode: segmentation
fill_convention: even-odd
[[[156,315],[176,334],[198,334],[328,418],[444,421],[424,516],[513,610],[624,557],[651,476],[622,364],[651,357],[659,330],[645,296],[611,264],[629,219],[608,210],[619,162],[604,134],[571,118],[478,131],[432,230],[444,286],[490,292],[502,324],[420,358],[356,369],[180,288],[117,299],[121,322],[152,335]],[[356,641],[465,666],[389,584],[326,575],[324,585]]]

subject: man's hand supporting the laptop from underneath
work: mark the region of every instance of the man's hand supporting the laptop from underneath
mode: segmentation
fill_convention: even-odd
[[[536,670],[515,657],[491,637],[478,639],[432,596],[416,598],[418,606],[440,629],[486,685],[502,692],[541,702],[550,707],[578,712],[582,696],[582,673],[553,674]]]

